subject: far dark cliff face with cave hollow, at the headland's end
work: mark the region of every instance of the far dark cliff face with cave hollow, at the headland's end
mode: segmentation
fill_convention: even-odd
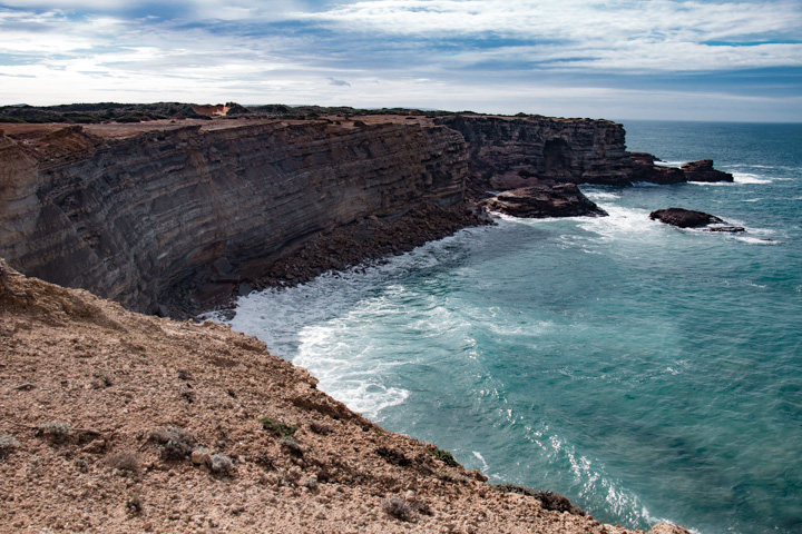
[[[437,120],[468,144],[473,191],[528,187],[538,180],[629,184],[622,125],[546,117],[454,116]]]

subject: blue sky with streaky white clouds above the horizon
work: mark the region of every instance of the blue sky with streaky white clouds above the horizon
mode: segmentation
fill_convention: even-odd
[[[802,0],[0,3],[0,105],[99,101],[802,122]]]

